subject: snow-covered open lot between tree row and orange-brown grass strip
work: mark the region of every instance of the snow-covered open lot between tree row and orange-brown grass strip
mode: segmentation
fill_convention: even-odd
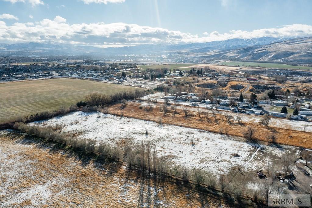
[[[243,166],[246,171],[264,169],[268,162],[274,164],[282,155],[297,150],[292,146],[277,148],[246,143],[239,137],[98,113],[74,112],[31,125],[56,124],[65,125],[63,132],[76,133],[78,138],[95,139],[99,143],[135,147],[141,141],[149,141],[156,145],[158,155],[166,156],[176,164],[198,167],[216,175],[227,173],[233,166]]]

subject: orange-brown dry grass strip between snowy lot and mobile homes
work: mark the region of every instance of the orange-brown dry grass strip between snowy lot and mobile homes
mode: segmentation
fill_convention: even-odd
[[[217,121],[214,120],[212,115],[210,117],[210,121],[207,121],[204,116],[200,119],[195,112],[191,112],[191,116],[185,117],[182,110],[178,110],[179,114],[174,115],[173,113],[167,113],[167,115],[164,116],[163,112],[159,111],[158,106],[149,111],[140,109],[139,106],[139,103],[128,102],[126,108],[122,110],[123,116],[156,122],[158,122],[158,117],[162,117],[162,122],[165,124],[197,128],[216,133],[220,133],[220,129],[222,129],[223,133],[227,131],[228,135],[240,137],[244,136],[248,127],[251,126],[256,130],[256,140],[268,141],[267,136],[274,133],[277,137],[276,142],[279,144],[312,149],[312,133],[310,132],[295,131],[277,127],[266,127],[254,123],[228,123],[225,116],[220,114],[217,114]],[[111,106],[110,113],[121,115],[120,104]]]

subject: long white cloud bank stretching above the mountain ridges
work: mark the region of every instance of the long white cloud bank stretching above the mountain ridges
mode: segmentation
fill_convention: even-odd
[[[6,25],[0,21],[0,42],[36,42],[51,40],[69,44],[107,46],[131,46],[139,44],[176,44],[190,42],[210,42],[231,38],[254,37],[301,37],[312,36],[312,26],[303,24],[286,25],[280,28],[258,29],[251,32],[232,30],[226,33],[204,32],[202,36],[148,27],[136,24],[104,22],[90,24],[69,24],[65,18],[56,16],[53,20],[14,23]]]

